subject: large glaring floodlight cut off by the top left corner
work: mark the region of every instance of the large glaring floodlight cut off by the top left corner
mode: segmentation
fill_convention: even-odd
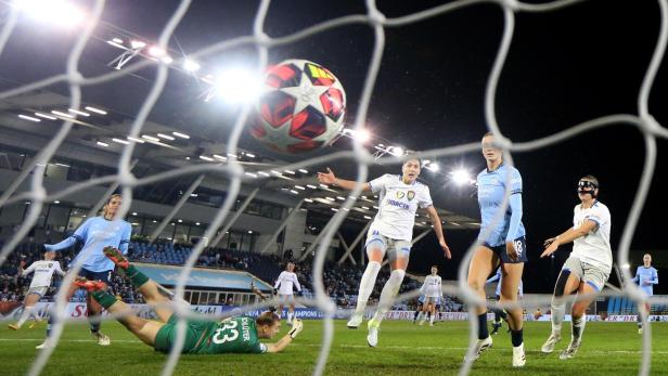
[[[14,4],[30,18],[65,28],[73,28],[86,18],[84,11],[64,0],[17,0]]]

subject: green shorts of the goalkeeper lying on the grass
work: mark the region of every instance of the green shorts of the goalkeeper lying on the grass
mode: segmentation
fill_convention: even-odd
[[[171,351],[171,347],[177,339],[177,315],[172,314],[167,323],[157,332],[155,335],[155,343],[153,345],[155,351],[164,353],[169,353],[169,351]],[[183,342],[181,353],[196,352],[196,349],[201,347],[202,341],[211,326],[216,326],[216,323],[210,321],[187,320],[185,341]]]

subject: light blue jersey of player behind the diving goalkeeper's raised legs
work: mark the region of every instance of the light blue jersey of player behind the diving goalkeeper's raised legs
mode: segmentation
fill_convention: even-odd
[[[86,270],[105,272],[114,270],[114,262],[104,256],[102,249],[111,246],[120,249],[124,255],[127,254],[131,233],[132,226],[124,220],[108,221],[104,217],[93,217],[86,220],[74,235],[59,244],[44,244],[44,248],[63,250],[80,242],[84,247],[70,264],[81,262],[81,268]]]

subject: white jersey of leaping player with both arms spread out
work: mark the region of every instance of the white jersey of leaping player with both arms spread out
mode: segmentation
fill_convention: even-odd
[[[370,233],[377,231],[391,239],[410,242],[413,238],[418,207],[433,205],[429,187],[420,182],[406,184],[398,174],[384,174],[369,182],[371,191],[378,194],[378,212]]]

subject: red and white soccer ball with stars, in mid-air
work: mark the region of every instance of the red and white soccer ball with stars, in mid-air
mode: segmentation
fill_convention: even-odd
[[[287,154],[327,145],[341,131],[346,92],[325,67],[286,60],[267,69],[251,134],[269,148]]]

